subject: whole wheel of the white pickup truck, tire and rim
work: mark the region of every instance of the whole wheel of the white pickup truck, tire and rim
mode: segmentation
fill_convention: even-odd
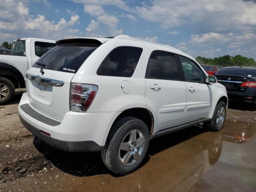
[[[13,83],[3,77],[0,77],[0,105],[12,100],[15,94]]]

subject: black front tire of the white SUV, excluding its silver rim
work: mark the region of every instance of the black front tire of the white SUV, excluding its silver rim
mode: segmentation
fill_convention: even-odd
[[[224,107],[224,110],[225,110],[224,121],[223,121],[221,126],[217,126],[216,117],[217,117],[217,114],[218,114],[218,110],[221,107]],[[216,108],[214,110],[214,114],[212,116],[212,120],[209,121],[209,122],[205,122],[204,123],[204,127],[208,128],[211,131],[219,131],[219,130],[221,130],[223,128],[223,126],[224,126],[224,122],[226,120],[226,115],[227,115],[227,108],[226,108],[225,102],[224,101],[218,102],[218,104],[217,104],[217,106],[216,106]]]

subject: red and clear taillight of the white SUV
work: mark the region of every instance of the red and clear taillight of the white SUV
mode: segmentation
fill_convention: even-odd
[[[98,86],[90,84],[71,83],[70,111],[86,112],[98,91]]]

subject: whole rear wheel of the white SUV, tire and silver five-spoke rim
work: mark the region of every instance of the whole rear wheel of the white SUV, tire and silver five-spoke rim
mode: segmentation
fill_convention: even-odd
[[[134,117],[120,118],[110,130],[102,160],[112,172],[125,175],[144,160],[149,146],[146,124]]]

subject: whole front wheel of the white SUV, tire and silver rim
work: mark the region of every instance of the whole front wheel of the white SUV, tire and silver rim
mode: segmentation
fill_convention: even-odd
[[[221,130],[226,120],[226,114],[227,114],[226,104],[224,101],[220,101],[214,110],[212,121],[205,122],[204,127],[210,129],[211,131]]]

